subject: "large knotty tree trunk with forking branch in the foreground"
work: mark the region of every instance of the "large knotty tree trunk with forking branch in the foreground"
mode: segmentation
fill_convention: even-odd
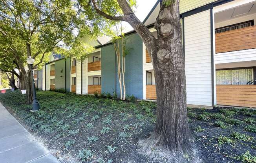
[[[171,159],[170,151],[190,152],[179,0],[160,0],[161,8],[155,22],[157,39],[135,16],[127,0],[117,0],[124,16],[108,15],[97,7],[95,0],[92,2],[97,13],[106,18],[128,22],[141,37],[151,56],[157,93],[157,122],[154,133],[140,142],[142,148],[139,151],[149,155],[158,152]]]

